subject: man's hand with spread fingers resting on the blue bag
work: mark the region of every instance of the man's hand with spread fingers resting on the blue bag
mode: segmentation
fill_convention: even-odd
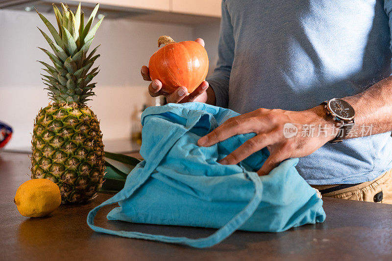
[[[288,128],[291,128],[291,132]],[[295,128],[297,132],[293,136]],[[316,151],[337,136],[337,127],[335,121],[326,116],[322,105],[299,112],[261,108],[228,119],[200,138],[197,144],[211,146],[234,135],[252,132],[256,133],[255,137],[247,140],[220,163],[237,164],[252,153],[267,147],[270,156],[257,171],[259,175],[266,175],[285,159],[304,157]]]

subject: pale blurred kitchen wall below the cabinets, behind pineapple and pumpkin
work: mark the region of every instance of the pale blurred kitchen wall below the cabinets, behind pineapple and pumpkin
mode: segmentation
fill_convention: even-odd
[[[54,23],[53,15],[46,17]],[[14,129],[8,149],[29,147],[33,119],[49,103],[40,77],[42,66],[36,60],[48,62],[37,47],[50,48],[36,26],[48,31],[35,12],[0,10],[0,121]],[[100,119],[104,140],[129,138],[132,115],[144,103],[153,104],[140,68],[157,50],[160,35],[170,35],[176,41],[204,38],[211,71],[216,63],[217,30],[217,24],[193,28],[105,19],[92,46],[101,44],[96,62],[100,72],[94,78],[97,96],[88,102]]]

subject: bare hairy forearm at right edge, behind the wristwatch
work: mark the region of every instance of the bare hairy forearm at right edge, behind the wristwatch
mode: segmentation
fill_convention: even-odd
[[[392,76],[377,82],[362,93],[344,97],[343,100],[355,110],[356,126],[347,138],[392,130]]]

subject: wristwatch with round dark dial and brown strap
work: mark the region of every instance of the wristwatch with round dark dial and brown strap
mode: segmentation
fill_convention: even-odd
[[[327,110],[327,115],[331,116],[338,124],[338,136],[329,141],[331,143],[342,142],[354,126],[355,111],[351,105],[342,99],[330,99],[321,103]]]

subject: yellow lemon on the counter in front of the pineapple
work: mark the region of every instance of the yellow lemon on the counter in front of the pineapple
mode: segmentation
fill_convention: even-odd
[[[28,180],[16,190],[14,202],[24,216],[46,216],[60,206],[60,189],[49,179]]]

